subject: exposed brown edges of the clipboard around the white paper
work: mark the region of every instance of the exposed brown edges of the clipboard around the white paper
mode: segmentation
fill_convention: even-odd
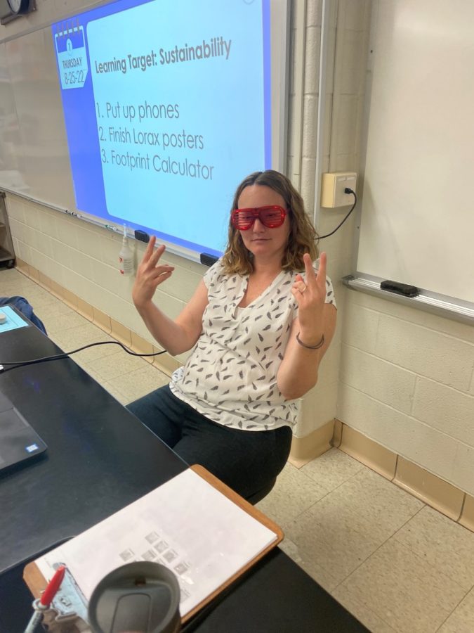
[[[199,475],[199,478],[201,480],[204,480],[204,482],[206,482],[207,484],[209,484],[214,489],[214,491],[218,491],[221,495],[223,495],[223,497],[225,497],[225,499],[232,501],[232,504],[234,506],[237,506],[237,508],[241,510],[243,513],[245,513],[246,515],[256,520],[257,524],[260,524],[264,528],[267,528],[267,530],[270,530],[270,532],[272,532],[272,541],[268,543],[267,546],[265,546],[260,551],[256,551],[255,554],[253,554],[251,558],[249,558],[249,560],[246,561],[246,563],[239,565],[237,570],[235,570],[233,573],[225,577],[225,580],[223,580],[223,582],[218,582],[218,584],[216,584],[216,586],[213,587],[213,589],[209,591],[206,594],[206,596],[204,596],[204,598],[201,601],[199,601],[199,603],[197,603],[190,610],[187,610],[185,614],[182,615],[182,618],[181,618],[181,622],[183,624],[187,622],[188,620],[190,620],[190,618],[192,618],[194,615],[196,615],[204,606],[211,603],[211,601],[215,599],[221,592],[227,589],[230,586],[230,584],[232,584],[232,582],[235,582],[237,578],[239,578],[242,574],[244,574],[247,570],[249,570],[257,561],[261,560],[261,558],[263,558],[265,554],[268,554],[270,550],[272,550],[275,546],[277,546],[277,544],[282,542],[282,539],[284,537],[282,529],[279,528],[279,526],[276,523],[274,523],[270,518],[265,516],[261,511],[254,508],[254,506],[249,504],[248,501],[246,501],[245,499],[240,497],[239,494],[231,490],[230,487],[228,487],[223,482],[218,480],[218,478],[216,478],[209,471],[207,471],[206,468],[204,468],[203,466],[195,465],[195,466],[191,466],[190,468],[187,469],[187,471],[184,471],[184,472],[186,473],[188,471],[192,471],[193,473]],[[177,476],[179,477],[180,475],[177,475]],[[165,487],[167,483],[169,482],[166,482],[163,486],[160,486],[159,488]],[[147,495],[145,495],[145,497],[147,497]],[[145,499],[145,497],[143,497],[143,499]],[[130,504],[130,506],[127,506],[127,508],[129,507],[131,508],[132,506],[134,506],[134,504],[136,504],[136,502],[133,502],[133,504]],[[112,517],[114,516],[115,515],[112,515]],[[112,517],[110,517],[109,519],[112,520]],[[96,528],[96,526],[93,526],[93,528]],[[93,528],[91,528],[91,530]],[[41,558],[44,558],[44,556],[42,556]],[[46,578],[44,577],[43,573],[41,572],[41,569],[39,568],[39,565],[37,564],[39,563],[40,560],[41,559],[37,559],[37,561],[32,561],[31,563],[28,563],[25,566],[25,570],[23,573],[23,578],[27,586],[29,587],[29,590],[32,592],[35,598],[38,598],[41,595],[41,591],[44,590],[47,584]],[[82,596],[82,598],[84,600],[84,596]]]

